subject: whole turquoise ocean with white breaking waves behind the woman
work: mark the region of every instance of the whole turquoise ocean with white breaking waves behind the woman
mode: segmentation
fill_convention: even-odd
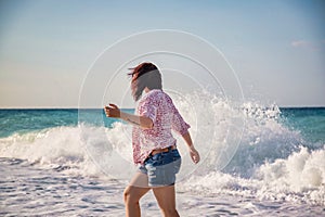
[[[325,107],[174,102],[202,155],[176,135],[181,216],[325,215]],[[0,110],[0,216],[125,216],[131,152],[131,126],[100,108]],[[153,193],[141,208],[160,216]]]

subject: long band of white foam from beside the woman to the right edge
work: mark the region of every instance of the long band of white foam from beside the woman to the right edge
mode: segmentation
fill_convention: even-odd
[[[292,201],[325,205],[325,150],[309,153],[304,148],[286,159],[262,165],[255,178],[240,178],[220,171],[192,176],[180,191],[203,195],[230,194],[259,200]]]

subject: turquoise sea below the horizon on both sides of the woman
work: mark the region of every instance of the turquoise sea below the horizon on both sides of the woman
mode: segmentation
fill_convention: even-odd
[[[123,111],[133,113],[133,110]],[[0,110],[0,138],[54,127],[75,127],[78,123],[110,127],[115,122],[118,120],[106,118],[103,110]],[[307,141],[325,143],[325,107],[281,108],[280,122],[300,131]]]

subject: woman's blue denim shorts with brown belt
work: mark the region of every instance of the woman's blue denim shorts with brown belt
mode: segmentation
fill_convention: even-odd
[[[147,175],[150,187],[172,186],[181,164],[182,158],[179,151],[170,149],[168,152],[150,155],[139,170]]]

